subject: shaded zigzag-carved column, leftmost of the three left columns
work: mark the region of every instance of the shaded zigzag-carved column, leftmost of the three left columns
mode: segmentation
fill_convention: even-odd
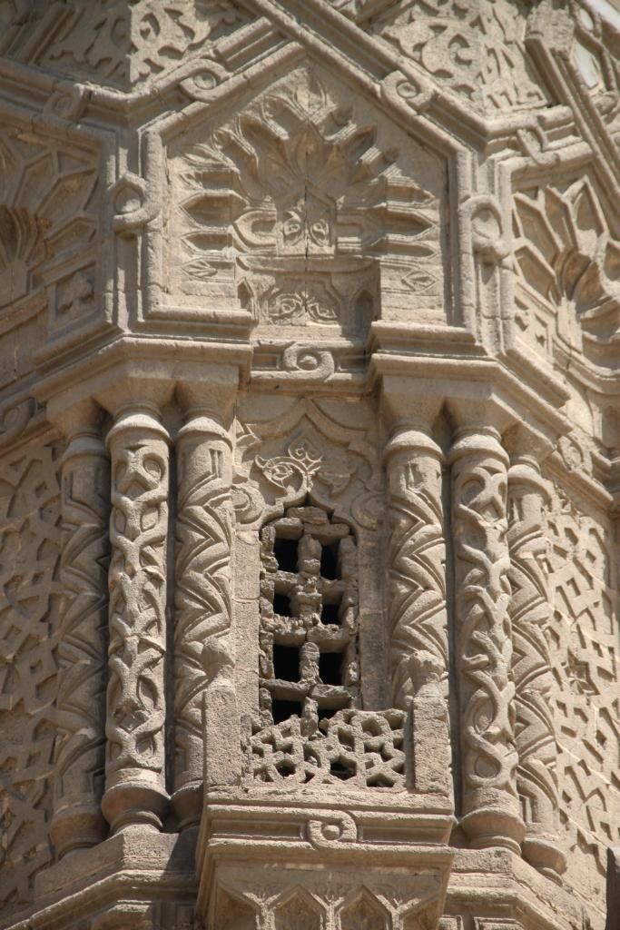
[[[59,857],[99,843],[105,764],[105,667],[110,469],[96,429],[73,435],[60,462],[63,591],[54,815]]]

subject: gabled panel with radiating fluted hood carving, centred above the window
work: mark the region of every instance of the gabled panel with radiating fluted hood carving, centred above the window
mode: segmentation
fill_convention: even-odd
[[[358,339],[377,313],[379,266],[388,305],[441,300],[442,162],[420,171],[402,157],[415,143],[401,153],[387,126],[304,65],[206,140],[175,143],[173,290],[238,298],[266,332]]]

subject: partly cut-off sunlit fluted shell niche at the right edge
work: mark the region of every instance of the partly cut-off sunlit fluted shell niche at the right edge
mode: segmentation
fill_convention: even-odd
[[[597,359],[620,326],[620,239],[586,175],[515,193],[515,271],[542,305],[517,323],[538,351],[548,333]],[[541,332],[542,330],[542,332]]]

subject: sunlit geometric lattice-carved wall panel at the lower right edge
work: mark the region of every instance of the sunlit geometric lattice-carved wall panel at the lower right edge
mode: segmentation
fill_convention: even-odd
[[[561,486],[554,490],[546,530],[560,840],[565,881],[604,913],[606,846],[620,838],[617,580],[610,528],[572,496]]]

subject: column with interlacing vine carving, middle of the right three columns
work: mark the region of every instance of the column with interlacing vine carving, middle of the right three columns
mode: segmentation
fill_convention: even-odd
[[[508,456],[492,427],[451,453],[463,827],[475,847],[521,853],[508,570]]]

